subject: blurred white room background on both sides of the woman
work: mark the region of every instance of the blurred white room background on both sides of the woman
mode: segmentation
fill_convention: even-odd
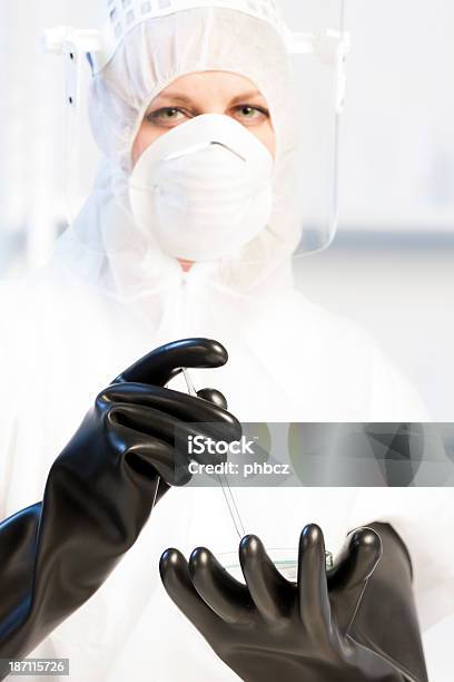
[[[300,0],[284,3],[297,26]],[[86,136],[85,164],[68,163],[62,64],[41,53],[39,36],[97,26],[100,7],[0,2],[1,276],[49,257],[67,217],[68,167],[89,189],[97,150]],[[453,26],[451,0],[347,0],[339,230],[298,267],[306,294],[372,331],[437,420],[454,413]]]

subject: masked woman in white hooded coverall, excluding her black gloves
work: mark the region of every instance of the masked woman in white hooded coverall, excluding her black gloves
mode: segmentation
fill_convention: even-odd
[[[227,348],[225,368],[204,376],[195,370],[193,379],[196,387],[204,381],[219,388],[243,421],[425,419],[417,397],[361,330],[293,289],[290,256],[299,238],[292,179],[297,121],[288,106],[280,33],[246,0],[197,4],[182,9],[185,3],[174,2],[164,16],[144,14],[93,76],[90,115],[105,155],[95,189],[59,240],[52,263],[2,296],[2,518],[41,498],[51,462],[111,377],[152,348],[184,337],[218,339]],[[216,135],[207,134],[205,117],[221,118]],[[164,140],[185,126],[195,131],[201,156],[187,162],[185,142],[177,145],[185,163],[164,163],[175,160],[175,150],[164,153]],[[248,177],[255,194],[246,198],[233,177],[238,167],[233,157],[241,157],[243,145],[247,158],[261,155],[272,168],[268,177],[264,162]],[[155,150],[152,158],[146,156]],[[191,174],[194,158],[199,176]],[[151,192],[155,176],[144,181],[141,160],[157,173],[160,188],[171,188],[168,196]],[[219,173],[209,196],[207,168]],[[196,182],[200,177],[204,183]],[[273,204],[260,224],[250,196],[259,191],[266,196],[267,177]],[[230,213],[226,220],[231,201],[244,222]],[[144,205],[154,221],[147,222]],[[194,232],[185,231],[181,220],[188,212]],[[213,224],[219,227],[215,235]],[[247,242],[238,224],[250,227]],[[197,230],[206,241],[203,260],[193,263],[200,249]],[[421,574],[425,622],[454,608],[448,595],[443,613],[430,612],[431,576],[446,575],[446,556],[434,558],[436,538],[432,546],[418,544],[422,524],[443,507],[443,495],[436,500],[417,489],[236,495],[246,530],[257,532],[268,546],[275,538],[294,546],[308,520],[326,530],[332,549],[352,526],[393,523]],[[169,602],[157,573],[161,552],[171,545],[189,549],[203,543],[215,552],[236,546],[223,495],[174,491],[155,514],[103,587],[34,655],[70,657],[75,680],[141,679],[150,657],[152,680],[234,679]],[[428,556],[432,572],[424,573]]]

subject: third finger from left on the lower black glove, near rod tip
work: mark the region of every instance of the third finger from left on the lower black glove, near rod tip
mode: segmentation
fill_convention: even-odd
[[[239,562],[249,594],[264,618],[280,618],[294,598],[292,585],[277,571],[260,539],[247,535],[239,546]]]

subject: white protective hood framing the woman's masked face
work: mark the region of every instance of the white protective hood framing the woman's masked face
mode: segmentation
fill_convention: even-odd
[[[179,274],[152,233],[145,235],[135,223],[128,175],[132,143],[150,101],[178,77],[205,70],[233,71],[256,84],[267,99],[277,138],[270,224],[240,259],[211,264],[210,285],[250,292],[285,259],[288,267],[299,242],[293,185],[297,120],[280,33],[231,9],[205,7],[147,19],[126,35],[115,57],[92,78],[90,120],[105,158],[86,206],[58,244],[73,273],[122,301],[144,300]]]

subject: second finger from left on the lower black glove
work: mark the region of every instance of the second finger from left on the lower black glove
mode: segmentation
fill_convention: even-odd
[[[248,623],[254,610],[246,585],[241,585],[205,547],[189,559],[193,584],[204,602],[227,623]]]

